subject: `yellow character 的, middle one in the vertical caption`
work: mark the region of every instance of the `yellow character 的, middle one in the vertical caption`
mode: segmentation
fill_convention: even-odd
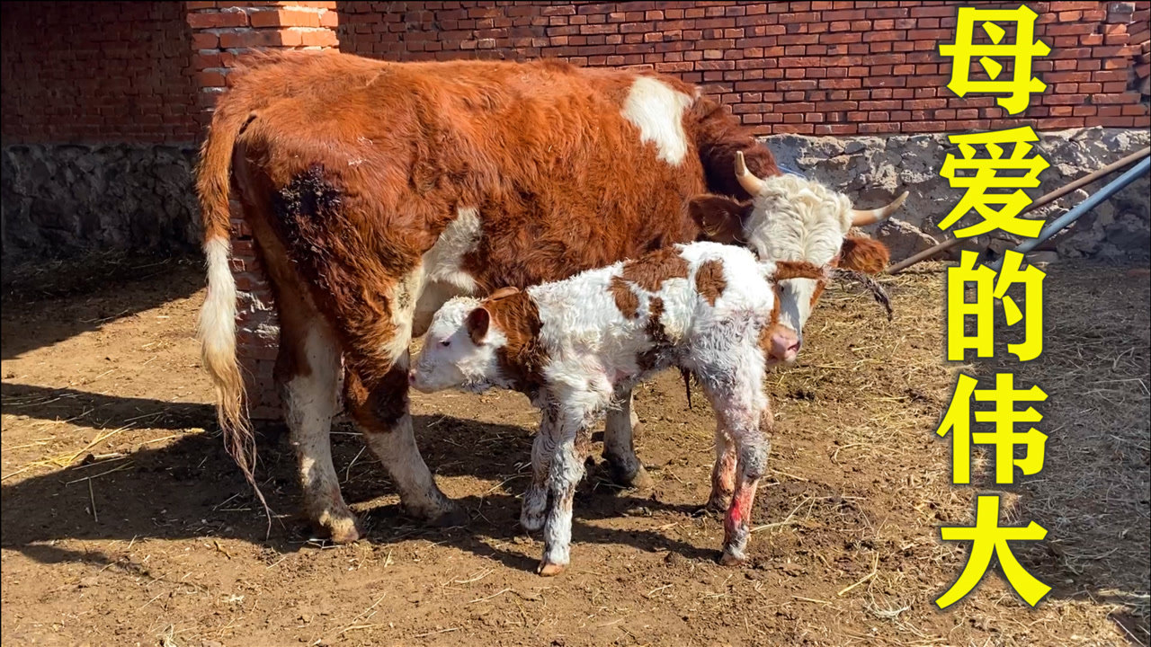
[[[1034,265],[1021,268],[1023,254],[1008,250],[997,275],[985,265],[976,266],[978,253],[965,251],[959,266],[947,268],[947,360],[961,361],[967,349],[976,357],[991,357],[994,345],[994,299],[1004,304],[1008,326],[1023,321],[1023,341],[1007,344],[1007,352],[1020,361],[1030,361],[1043,352],[1043,280],[1046,273]],[[975,286],[975,302],[967,300],[967,284]],[[1023,286],[1023,310],[1007,296],[1013,286]],[[963,324],[975,318],[975,336],[968,336]]]

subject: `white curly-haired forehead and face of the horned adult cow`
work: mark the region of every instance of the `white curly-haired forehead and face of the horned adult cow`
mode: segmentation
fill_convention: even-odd
[[[794,175],[763,181],[744,237],[770,260],[807,260],[823,266],[839,253],[852,226],[852,204],[843,193]],[[779,283],[783,298],[779,321],[803,340],[803,324],[811,314],[816,281],[792,279]]]

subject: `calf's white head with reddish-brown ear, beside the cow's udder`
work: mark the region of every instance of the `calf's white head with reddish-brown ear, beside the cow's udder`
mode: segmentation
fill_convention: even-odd
[[[487,310],[472,297],[456,297],[432,318],[424,348],[409,373],[417,390],[482,390],[500,375],[496,351],[506,342]]]

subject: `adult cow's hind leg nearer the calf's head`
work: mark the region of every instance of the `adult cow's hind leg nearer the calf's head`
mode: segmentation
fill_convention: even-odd
[[[467,515],[440,492],[412,433],[407,401],[407,351],[388,372],[368,385],[349,371],[344,387],[348,409],[364,431],[364,440],[399,490],[405,511],[433,525],[457,526]]]

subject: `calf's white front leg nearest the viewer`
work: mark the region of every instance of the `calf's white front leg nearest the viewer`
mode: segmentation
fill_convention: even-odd
[[[584,478],[584,459],[590,444],[590,432],[581,424],[561,423],[554,435],[555,454],[548,474],[551,505],[543,525],[543,560],[538,572],[557,576],[571,561],[572,502]]]

